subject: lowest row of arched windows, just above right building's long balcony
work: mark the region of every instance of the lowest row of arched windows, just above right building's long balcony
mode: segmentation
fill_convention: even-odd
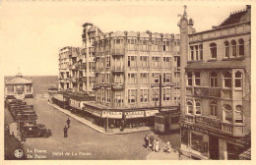
[[[213,117],[218,116],[218,101],[212,100],[209,102],[209,109],[210,115]],[[236,105],[234,109],[235,113],[233,116],[232,108],[228,104],[224,104],[223,106],[223,115],[224,121],[228,123],[232,123],[233,119],[235,123],[243,123],[243,113],[242,113],[242,106]],[[187,113],[188,114],[195,114],[195,115],[202,115],[202,107],[200,100],[195,100],[195,106],[193,106],[192,101],[187,101]]]

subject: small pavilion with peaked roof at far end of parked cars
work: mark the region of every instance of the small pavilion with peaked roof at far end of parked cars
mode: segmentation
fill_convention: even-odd
[[[26,80],[19,72],[16,77],[5,82],[5,98],[32,98],[32,80]]]

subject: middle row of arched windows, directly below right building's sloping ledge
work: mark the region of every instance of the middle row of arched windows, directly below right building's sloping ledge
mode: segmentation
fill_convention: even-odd
[[[194,75],[194,77],[193,77]],[[237,71],[234,73],[234,87],[242,87],[242,81],[243,81],[243,75],[241,72]],[[223,86],[224,87],[231,87],[232,86],[232,74],[230,72],[225,72],[222,75],[223,78]],[[218,87],[221,86],[219,83],[219,78],[218,74],[216,72],[211,72],[209,74],[209,86],[212,87]],[[191,86],[193,85],[201,85],[201,75],[200,72],[188,72],[187,73],[187,85]]]

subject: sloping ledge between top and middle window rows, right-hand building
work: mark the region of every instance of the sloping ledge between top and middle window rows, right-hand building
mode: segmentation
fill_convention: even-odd
[[[188,64],[186,70],[205,70],[205,69],[235,69],[245,68],[240,61],[215,61],[215,62],[193,62]]]

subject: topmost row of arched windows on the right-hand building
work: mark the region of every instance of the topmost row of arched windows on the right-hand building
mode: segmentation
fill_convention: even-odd
[[[212,42],[209,45],[210,48],[210,59],[217,59],[217,44]],[[236,40],[231,40],[228,42],[224,41],[224,57],[234,58],[244,56],[244,40],[242,38]],[[198,61],[203,60],[203,44],[190,46],[190,56],[189,60]]]

